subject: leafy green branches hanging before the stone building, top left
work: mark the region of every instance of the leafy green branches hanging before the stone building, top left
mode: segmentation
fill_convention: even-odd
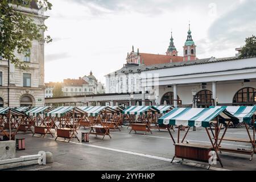
[[[27,65],[15,56],[15,51],[30,56],[32,40],[51,42],[50,36],[43,38],[42,31],[47,30],[44,24],[36,23],[34,15],[20,11],[20,6],[30,7],[31,1],[38,3],[40,8],[51,10],[48,0],[0,0],[0,56],[10,60],[16,66]]]

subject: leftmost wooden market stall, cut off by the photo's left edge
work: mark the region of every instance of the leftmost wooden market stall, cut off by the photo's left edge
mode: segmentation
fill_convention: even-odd
[[[15,134],[17,133],[16,121],[14,118],[24,118],[26,114],[17,111],[11,107],[1,107],[0,108],[0,135],[3,137],[3,140],[6,139],[15,139]]]

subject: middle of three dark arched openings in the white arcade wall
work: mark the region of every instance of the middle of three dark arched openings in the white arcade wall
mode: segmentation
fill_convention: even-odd
[[[197,107],[209,107],[212,105],[212,91],[201,90],[196,94]]]

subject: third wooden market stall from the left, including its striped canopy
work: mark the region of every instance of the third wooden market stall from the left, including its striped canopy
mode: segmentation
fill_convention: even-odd
[[[64,140],[69,139],[68,142],[71,138],[79,140],[77,137],[77,128],[84,114],[85,111],[73,106],[61,106],[49,111],[43,120],[43,126],[46,129],[44,130],[44,135],[46,133],[52,135],[50,130],[54,128],[57,131],[55,140],[59,137],[64,138]]]

